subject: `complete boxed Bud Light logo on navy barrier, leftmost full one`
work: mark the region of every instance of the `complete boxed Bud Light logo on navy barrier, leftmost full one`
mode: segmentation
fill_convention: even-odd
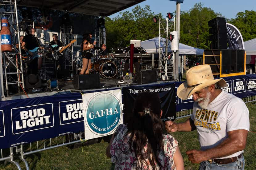
[[[13,134],[54,126],[52,103],[11,109]]]

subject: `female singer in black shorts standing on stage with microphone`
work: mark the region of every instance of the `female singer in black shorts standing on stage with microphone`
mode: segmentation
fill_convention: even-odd
[[[94,48],[94,45],[96,45],[96,41],[91,43],[92,34],[86,34],[83,37],[83,41],[81,44],[81,51],[82,51],[82,59],[83,59],[83,67],[81,69],[81,72],[79,74],[89,74],[89,69],[91,66],[92,61],[92,49]]]

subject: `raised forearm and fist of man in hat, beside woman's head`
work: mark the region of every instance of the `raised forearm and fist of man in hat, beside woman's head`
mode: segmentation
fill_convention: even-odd
[[[165,122],[165,128],[167,132],[177,132],[177,131],[183,131],[183,132],[189,132],[196,129],[196,126],[194,124],[194,121],[192,121],[191,118],[189,118],[187,121],[183,123],[175,123],[173,121],[166,121]]]

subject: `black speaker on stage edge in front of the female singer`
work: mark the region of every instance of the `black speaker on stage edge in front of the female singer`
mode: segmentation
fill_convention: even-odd
[[[74,75],[72,81],[74,89],[93,89],[100,87],[100,75],[99,74],[83,74]]]

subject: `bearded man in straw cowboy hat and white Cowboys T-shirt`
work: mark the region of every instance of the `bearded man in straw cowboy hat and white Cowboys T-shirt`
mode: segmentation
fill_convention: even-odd
[[[238,97],[221,90],[224,79],[214,79],[209,65],[198,65],[186,73],[187,82],[177,89],[183,100],[193,96],[193,114],[183,123],[166,121],[168,132],[197,129],[200,150],[188,150],[188,160],[204,169],[244,169],[243,149],[250,131],[249,110]]]

